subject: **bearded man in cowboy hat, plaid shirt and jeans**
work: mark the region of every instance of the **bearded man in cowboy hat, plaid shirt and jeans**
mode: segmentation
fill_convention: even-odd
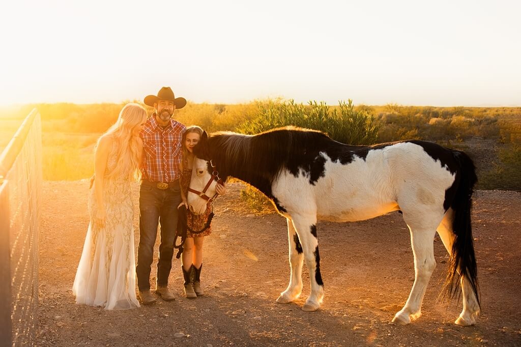
[[[147,119],[141,132],[143,158],[139,196],[139,249],[138,288],[141,302],[153,304],[156,299],[150,292],[150,266],[154,256],[154,244],[160,224],[159,259],[157,262],[156,294],[163,300],[174,299],[168,290],[168,276],[172,268],[173,239],[176,234],[178,210],[181,203],[179,186],[181,163],[181,137],[185,129],[173,120],[176,109],[183,108],[187,101],[176,98],[170,87],[163,87],[157,95],[148,95],[144,100],[155,112]]]

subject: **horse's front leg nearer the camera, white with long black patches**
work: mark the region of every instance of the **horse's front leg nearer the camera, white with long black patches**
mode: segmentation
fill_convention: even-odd
[[[320,307],[322,299],[324,299],[324,282],[322,282],[320,274],[320,255],[318,253],[317,217],[311,214],[296,215],[292,216],[292,221],[302,245],[306,265],[309,269],[309,279],[311,280],[311,294],[309,294],[302,309],[304,311],[316,311]]]

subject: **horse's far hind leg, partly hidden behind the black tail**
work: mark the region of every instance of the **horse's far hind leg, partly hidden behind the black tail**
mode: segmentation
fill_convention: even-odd
[[[453,211],[449,208],[449,210],[443,217],[441,224],[438,226],[438,234],[441,238],[441,241],[443,242],[443,245],[445,246],[445,249],[447,250],[447,252],[449,252],[450,256],[452,256],[452,245],[454,243],[452,214]],[[470,283],[466,277],[461,279],[460,284],[463,293],[463,311],[454,323],[460,326],[473,325],[476,323],[476,319],[474,318],[474,316],[479,315],[478,300],[476,298],[476,295],[474,294],[474,291],[472,290],[472,287],[470,287]]]

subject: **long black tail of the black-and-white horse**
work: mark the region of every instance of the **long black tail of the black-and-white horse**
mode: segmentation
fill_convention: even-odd
[[[449,273],[445,280],[444,291],[449,298],[459,296],[460,286],[458,282],[466,278],[476,295],[479,305],[476,256],[474,253],[472,224],[470,222],[472,193],[478,178],[476,176],[476,167],[468,155],[455,150],[452,151],[452,155],[458,164],[454,181],[457,187],[450,205],[453,209],[452,230],[454,243],[452,245]]]

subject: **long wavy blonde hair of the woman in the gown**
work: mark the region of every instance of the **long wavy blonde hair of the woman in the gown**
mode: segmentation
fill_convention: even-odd
[[[114,170],[108,172],[107,178],[141,179],[138,150],[140,139],[139,134],[134,134],[133,130],[145,121],[146,110],[143,106],[128,103],[119,112],[118,120],[114,125],[101,136],[101,138],[110,137],[117,146],[117,164]],[[100,140],[98,140],[98,144]]]

